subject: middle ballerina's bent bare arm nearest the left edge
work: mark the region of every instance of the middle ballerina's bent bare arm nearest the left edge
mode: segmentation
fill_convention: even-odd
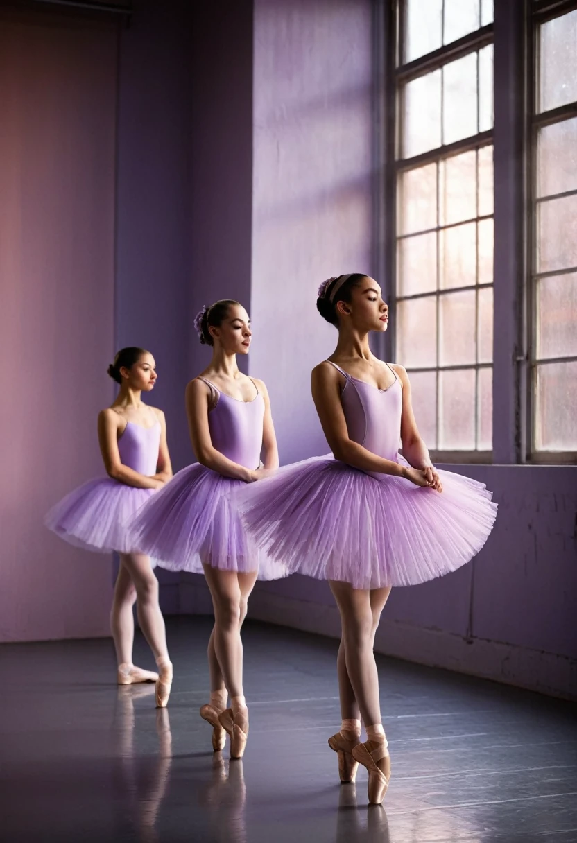
[[[235,480],[243,480],[245,483],[255,481],[256,470],[250,470],[244,465],[235,463],[213,447],[208,428],[209,400],[210,389],[207,384],[197,378],[191,380],[186,387],[186,418],[191,434],[192,450],[198,462],[224,477],[234,477]]]

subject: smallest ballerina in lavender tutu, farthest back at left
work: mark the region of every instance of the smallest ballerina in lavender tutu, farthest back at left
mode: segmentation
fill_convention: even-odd
[[[159,583],[148,556],[138,552],[127,534],[138,508],[172,476],[164,413],[141,400],[143,392],[154,389],[155,366],[152,354],[142,348],[123,348],[116,354],[108,373],[121,388],[111,407],[98,417],[108,477],[70,492],[47,514],[46,526],[73,545],[105,553],[116,550],[120,555],[111,610],[118,684],[155,681],[156,704],[165,706],[172,664],[159,608]],[[138,623],[160,676],[132,664],[135,600]]]

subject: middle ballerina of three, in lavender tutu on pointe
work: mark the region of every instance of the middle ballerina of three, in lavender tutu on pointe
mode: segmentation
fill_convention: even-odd
[[[245,309],[221,301],[198,314],[203,344],[213,346],[208,367],[186,388],[186,412],[199,464],[175,475],[133,524],[138,546],[171,571],[204,572],[213,598],[214,628],[208,642],[210,702],[201,716],[213,726],[213,749],[240,758],[248,733],[242,685],[240,627],[256,576],[283,575],[248,539],[230,501],[238,486],[258,480],[264,467],[278,466],[267,388],[239,371],[237,354],[247,354],[251,328]],[[260,561],[260,567],[259,567]],[[227,692],[231,707],[227,709]]]

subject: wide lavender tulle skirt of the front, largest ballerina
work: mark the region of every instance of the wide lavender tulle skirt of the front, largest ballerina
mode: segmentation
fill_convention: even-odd
[[[497,514],[482,483],[439,476],[441,493],[393,475],[377,480],[329,455],[245,486],[236,502],[249,533],[288,573],[353,588],[415,585],[472,559]]]

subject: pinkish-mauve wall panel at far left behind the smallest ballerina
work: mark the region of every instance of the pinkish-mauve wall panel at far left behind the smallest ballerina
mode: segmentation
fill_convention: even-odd
[[[0,25],[0,640],[105,635],[105,557],[42,524],[100,473],[110,402],[116,30],[52,15]]]

